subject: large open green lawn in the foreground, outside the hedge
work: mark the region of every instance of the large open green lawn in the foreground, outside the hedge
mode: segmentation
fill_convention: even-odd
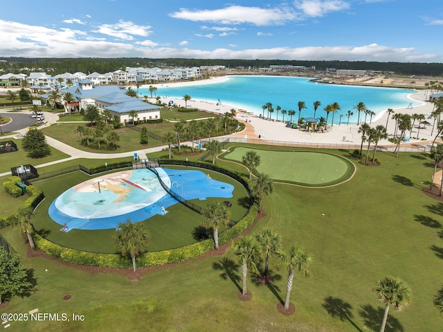
[[[278,148],[276,148],[278,149]],[[330,151],[347,156],[348,151]],[[356,164],[340,186],[303,188],[275,184],[264,197],[266,217],[253,227],[282,234],[284,249],[299,243],[314,256],[313,274],[296,274],[284,316],[287,272],[275,270],[272,286],[258,286],[248,274],[253,297],[241,302],[241,268],[233,252],[149,272],[138,282],[120,274],[89,273],[43,258],[29,258],[17,229],[2,229],[21,261],[33,269],[37,290],[14,297],[2,312],[85,315],[84,322],[12,322],[11,331],[379,331],[383,304],[372,292],[385,276],[406,281],[413,304],[390,308],[386,331],[443,330],[433,295],[443,275],[443,204],[421,191],[431,179],[428,155],[378,152],[381,166]],[[230,161],[217,164],[246,169]],[[47,270],[47,271],[46,271]],[[63,295],[71,294],[69,301]],[[346,313],[347,315],[341,315]],[[341,320],[341,317],[343,320]]]

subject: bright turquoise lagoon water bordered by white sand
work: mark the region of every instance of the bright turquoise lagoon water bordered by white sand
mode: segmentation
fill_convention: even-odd
[[[372,112],[379,114],[388,108],[404,108],[410,103],[413,106],[418,102],[407,98],[415,91],[408,89],[386,88],[386,87],[358,87],[350,85],[334,85],[310,82],[311,78],[282,77],[282,76],[228,76],[225,82],[210,84],[189,85],[181,87],[168,87],[167,83],[158,87],[157,96],[168,96],[171,98],[183,98],[188,94],[194,100],[205,100],[213,103],[221,101],[223,104],[233,105],[255,114],[262,114],[262,105],[272,103],[274,107],[273,119],[277,114],[276,106],[282,110],[294,110],[298,118],[298,101],[304,101],[307,109],[302,110],[301,116],[314,116],[314,101],[320,101],[321,105],[316,112],[316,118],[326,117],[323,108],[330,103],[337,102],[341,110],[334,115],[338,123],[340,114],[343,114],[342,122],[347,121],[347,111],[354,112],[350,117],[351,123],[356,123],[358,112],[353,109],[360,102]],[[150,95],[149,89],[140,89],[141,95]],[[197,104],[198,107],[198,104]],[[265,110],[264,115],[267,112]],[[332,114],[329,114],[329,121]],[[364,117],[361,113],[360,116]],[[279,112],[278,119],[282,119]],[[284,119],[289,119],[286,114]]]

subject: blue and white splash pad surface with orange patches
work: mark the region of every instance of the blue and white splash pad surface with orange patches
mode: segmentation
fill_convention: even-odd
[[[233,197],[233,185],[213,180],[201,171],[156,170],[163,182],[186,200]],[[58,224],[66,224],[67,231],[110,229],[127,219],[140,222],[156,214],[163,215],[162,208],[168,209],[177,203],[156,175],[143,169],[96,177],[74,186],[51,203],[48,213]]]

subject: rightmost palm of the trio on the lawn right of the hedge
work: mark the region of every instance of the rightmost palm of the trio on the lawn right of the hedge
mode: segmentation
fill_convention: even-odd
[[[310,278],[312,274],[309,272],[309,270],[307,270],[307,266],[312,262],[313,258],[312,256],[309,256],[309,254],[307,254],[302,247],[292,244],[287,254],[284,252],[280,253],[280,259],[282,259],[282,264],[284,264],[288,270],[284,308],[289,309],[289,298],[291,296],[293,276],[295,272],[298,271],[305,274],[305,277]]]

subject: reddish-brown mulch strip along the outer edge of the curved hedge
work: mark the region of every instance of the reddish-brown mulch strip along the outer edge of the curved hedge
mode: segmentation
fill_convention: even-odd
[[[250,231],[253,228],[253,226],[255,226],[257,221],[260,220],[260,218],[263,218],[264,216],[266,216],[266,213],[264,213],[263,211],[258,213],[257,218],[255,218],[255,220],[253,222],[253,225],[251,225],[251,227],[246,229],[246,231],[244,231],[244,233],[241,234],[240,236],[247,234],[248,231]],[[239,238],[239,236],[237,236],[237,238]],[[233,241],[237,240],[237,238],[234,238]],[[27,241],[27,239],[25,237],[24,237],[24,240]],[[188,261],[184,261],[181,263],[171,263],[171,264],[166,264],[166,265],[150,266],[147,268],[138,268],[136,270],[136,272],[134,272],[134,270],[132,268],[129,268],[129,269],[100,268],[98,266],[87,266],[87,265],[78,265],[78,264],[68,263],[68,262],[60,261],[58,259],[54,259],[53,257],[46,254],[46,252],[42,252],[42,250],[37,249],[35,251],[32,251],[32,250],[30,250],[30,247],[28,247],[28,252],[26,253],[26,256],[28,256],[30,258],[43,257],[45,259],[55,261],[59,264],[69,266],[70,268],[75,268],[77,270],[81,270],[81,271],[89,272],[89,273],[105,273],[105,272],[119,273],[119,274],[123,274],[125,277],[127,277],[127,279],[129,279],[131,281],[138,281],[139,279],[141,279],[141,277],[143,277],[145,274],[147,274],[148,272],[151,272],[151,271],[161,270],[164,268],[170,268],[171,266],[175,266],[175,265],[179,265],[179,264],[186,264],[190,261],[196,261],[197,259],[203,259],[203,258],[209,257],[209,256],[221,256],[226,252],[226,250],[228,250],[229,246],[230,246],[230,242],[224,243],[223,245],[219,246],[219,250],[211,250],[210,252],[206,252],[206,254],[203,254],[195,259],[190,259]],[[242,294],[242,293],[240,293],[240,294]],[[1,305],[0,305],[0,308],[1,308]]]

